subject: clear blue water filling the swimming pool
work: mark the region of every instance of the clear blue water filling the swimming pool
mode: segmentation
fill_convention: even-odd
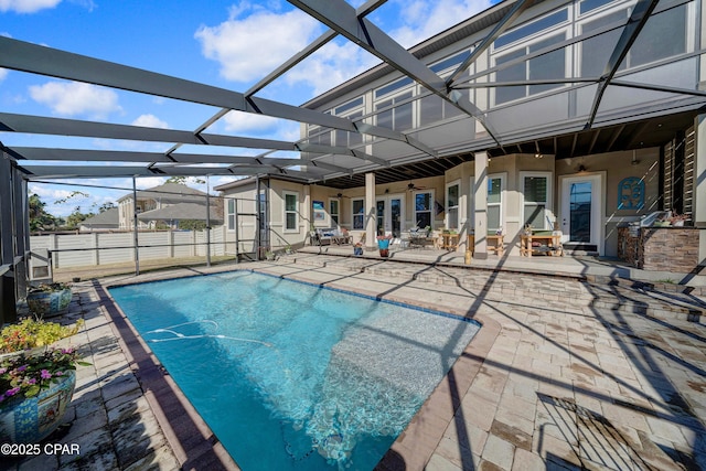
[[[110,289],[249,470],[372,470],[479,327],[235,271]]]

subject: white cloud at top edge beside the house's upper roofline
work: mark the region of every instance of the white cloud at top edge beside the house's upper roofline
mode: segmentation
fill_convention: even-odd
[[[405,47],[421,41],[490,8],[489,0],[396,0],[403,25],[389,32]]]

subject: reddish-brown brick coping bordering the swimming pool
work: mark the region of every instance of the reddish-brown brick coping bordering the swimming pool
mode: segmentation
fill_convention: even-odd
[[[361,288],[340,288],[335,281],[321,282],[307,278],[306,274],[274,275],[252,267],[228,267],[214,272],[161,274],[143,281],[95,280],[94,288],[105,307],[106,315],[120,346],[128,360],[130,370],[138,378],[145,397],[153,410],[164,436],[182,469],[239,470],[239,467],[215,433],[201,418],[181,388],[161,367],[159,360],[149,345],[139,336],[129,319],[109,295],[109,288],[141,282],[164,281],[170,279],[207,276],[225,271],[253,271],[281,279],[306,282],[338,291],[346,291],[386,302],[404,303],[427,311],[448,312],[454,318],[463,318],[480,324],[473,339],[459,355],[449,372],[435,387],[429,397],[411,418],[405,430],[376,465],[376,470],[424,469],[443,437],[451,421],[457,418],[461,400],[483,365],[485,356],[500,333],[500,323],[481,313],[452,312],[439,310],[421,299],[391,293],[379,295]],[[456,424],[462,428],[462,424]],[[205,468],[204,468],[205,467]]]

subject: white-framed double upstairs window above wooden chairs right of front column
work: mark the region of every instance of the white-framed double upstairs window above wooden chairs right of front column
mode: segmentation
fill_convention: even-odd
[[[560,33],[554,36],[545,38],[541,41],[535,41],[526,46],[516,49],[512,52],[495,57],[495,65],[502,65],[518,57],[523,57],[526,54],[533,54],[542,49],[552,46],[553,44],[558,44],[565,39],[565,33]],[[566,77],[566,52],[564,51],[564,49],[558,49],[556,51],[536,56],[528,61],[511,65],[507,68],[500,69],[495,73],[495,82],[498,83],[542,81],[564,77]],[[495,104],[500,105],[513,99],[524,98],[525,96],[543,93],[554,88],[559,88],[561,86],[561,84],[547,84],[496,87]]]

